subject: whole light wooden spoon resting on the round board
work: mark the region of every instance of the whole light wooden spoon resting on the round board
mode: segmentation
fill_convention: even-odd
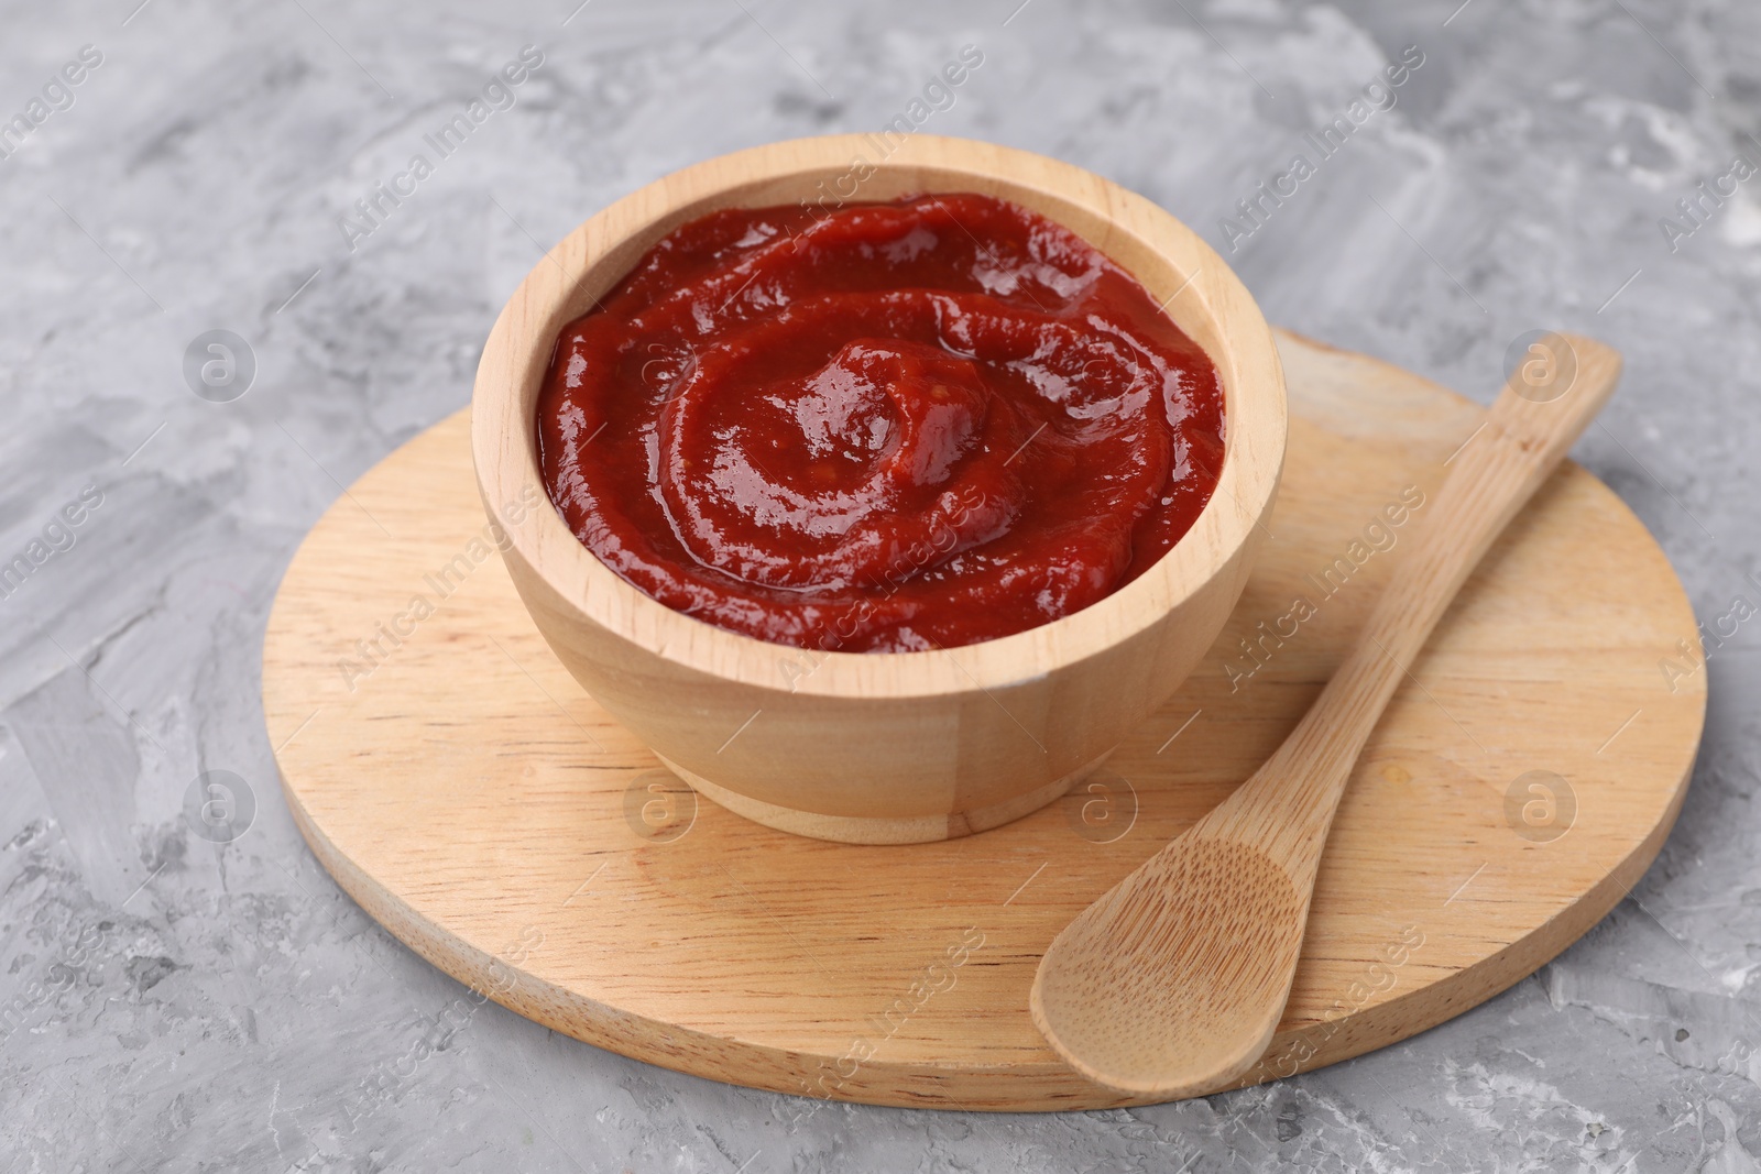
[[[1122,1093],[1176,1098],[1217,1091],[1266,1051],[1363,743],[1474,565],[1618,378],[1620,356],[1603,343],[1534,343],[1451,458],[1363,632],[1284,745],[1051,942],[1030,1007],[1072,1068]]]

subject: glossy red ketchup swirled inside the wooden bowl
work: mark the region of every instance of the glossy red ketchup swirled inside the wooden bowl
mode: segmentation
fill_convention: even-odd
[[[564,327],[539,465],[659,602],[822,651],[972,644],[1143,574],[1217,486],[1199,347],[986,195],[710,213]]]

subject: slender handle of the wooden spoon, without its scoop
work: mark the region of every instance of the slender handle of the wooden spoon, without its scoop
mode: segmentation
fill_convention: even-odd
[[[1485,424],[1448,461],[1430,516],[1321,697],[1194,833],[1247,834],[1293,877],[1312,871],[1351,767],[1432,628],[1618,378],[1620,354],[1594,340],[1548,334],[1530,347]]]

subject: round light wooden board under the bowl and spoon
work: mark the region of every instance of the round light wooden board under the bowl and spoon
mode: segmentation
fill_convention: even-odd
[[[696,799],[532,627],[486,528],[463,412],[361,477],[287,570],[262,660],[287,803],[387,929],[581,1040],[819,1098],[1134,1104],[1039,1038],[1041,950],[1278,745],[1425,517],[1396,526],[1384,509],[1432,493],[1481,419],[1398,368],[1278,345],[1289,459],[1226,634],[1092,783],[1027,818],[854,847]],[[1662,669],[1691,669],[1682,641],[1698,653],[1662,551],[1606,486],[1564,468],[1370,739],[1250,1081],[1460,1014],[1624,896],[1699,743],[1705,674]]]

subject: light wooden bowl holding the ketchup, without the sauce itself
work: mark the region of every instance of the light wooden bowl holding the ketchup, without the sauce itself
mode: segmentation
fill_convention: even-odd
[[[1062,796],[1164,702],[1222,630],[1284,465],[1284,373],[1229,266],[1150,201],[988,143],[910,136],[773,143],[687,167],[571,232],[514,290],[472,398],[472,452],[502,556],[558,660],[706,797],[782,831],[917,843]],[[539,475],[535,403],[562,327],[680,224],[718,208],[979,192],[1085,238],[1212,361],[1227,442],[1215,495],[1148,572],[1053,623],[917,653],[821,653],[676,613],[569,532]],[[1176,752],[1178,753],[1178,752]],[[639,766],[639,764],[632,764]]]

